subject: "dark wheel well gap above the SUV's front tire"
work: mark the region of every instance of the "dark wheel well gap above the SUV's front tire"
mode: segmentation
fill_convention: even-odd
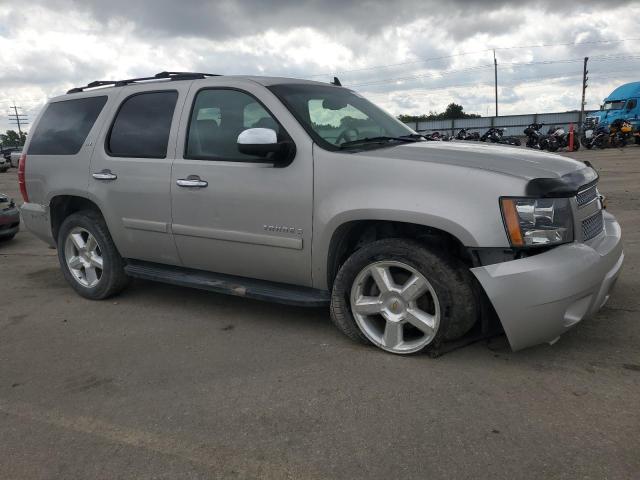
[[[327,259],[327,284],[333,285],[338,270],[349,256],[364,245],[383,238],[410,238],[459,258],[472,266],[462,242],[444,230],[414,223],[357,220],[340,225],[331,238]]]

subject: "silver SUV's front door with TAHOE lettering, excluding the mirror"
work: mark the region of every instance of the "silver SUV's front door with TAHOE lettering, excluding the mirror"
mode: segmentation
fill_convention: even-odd
[[[291,115],[264,88],[246,88],[190,94],[171,176],[178,253],[187,267],[309,286],[311,143],[297,140],[295,158],[282,168],[240,153],[237,138],[248,128],[283,138],[297,125],[287,124]]]

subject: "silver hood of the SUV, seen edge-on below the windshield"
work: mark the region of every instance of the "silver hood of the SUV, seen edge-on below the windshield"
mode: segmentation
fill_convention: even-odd
[[[485,143],[416,142],[361,152],[356,155],[440,163],[498,172],[526,180],[559,178],[586,167],[560,155],[520,147]]]

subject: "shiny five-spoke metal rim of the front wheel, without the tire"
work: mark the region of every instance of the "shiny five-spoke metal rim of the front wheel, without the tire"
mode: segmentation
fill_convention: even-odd
[[[351,311],[362,333],[393,353],[421,350],[440,325],[440,303],[431,283],[397,261],[372,263],[356,276]]]

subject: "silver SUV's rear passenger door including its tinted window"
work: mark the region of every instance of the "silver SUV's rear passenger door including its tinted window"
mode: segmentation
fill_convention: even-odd
[[[191,82],[122,87],[98,140],[89,189],[120,254],[177,265],[171,224],[171,163]]]

